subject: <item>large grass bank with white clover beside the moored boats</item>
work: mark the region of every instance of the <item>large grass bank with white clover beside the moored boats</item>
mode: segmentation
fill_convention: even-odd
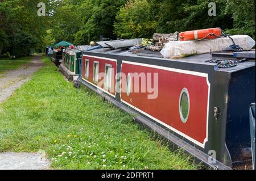
[[[0,152],[46,151],[53,169],[197,169],[92,91],[46,67],[0,105]]]

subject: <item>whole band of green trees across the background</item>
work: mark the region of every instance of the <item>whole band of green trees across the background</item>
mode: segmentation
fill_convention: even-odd
[[[41,0],[47,16],[37,15],[36,0],[0,2],[0,56],[28,54],[61,40],[85,45],[100,35],[152,37],[154,32],[221,27],[255,39],[255,0]],[[209,3],[217,15],[209,16]],[[24,37],[27,36],[27,37]],[[23,41],[25,42],[23,44]]]

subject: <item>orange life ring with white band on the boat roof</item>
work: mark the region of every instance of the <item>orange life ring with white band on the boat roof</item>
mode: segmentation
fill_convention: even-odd
[[[199,41],[203,39],[216,39],[222,35],[220,28],[185,31],[180,33],[180,41]]]

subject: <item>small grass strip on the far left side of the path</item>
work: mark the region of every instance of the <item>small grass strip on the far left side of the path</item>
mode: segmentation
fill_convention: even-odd
[[[22,58],[0,58],[0,74],[8,70],[14,70],[20,68],[20,66],[27,64],[31,61],[31,57],[22,57]]]

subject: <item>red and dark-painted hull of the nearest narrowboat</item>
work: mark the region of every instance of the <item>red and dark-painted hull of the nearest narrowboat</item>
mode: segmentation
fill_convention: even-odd
[[[230,169],[244,162],[243,150],[250,146],[248,106],[255,102],[255,61],[218,69],[216,64],[205,62],[209,59],[208,54],[169,60],[129,53],[83,52],[79,83],[134,113],[136,121],[206,165]],[[112,68],[108,75],[107,66]],[[157,92],[144,91],[142,77],[139,91],[128,91],[127,77],[143,73],[151,88],[157,75]],[[112,80],[108,87],[107,76]],[[180,106],[184,92],[189,100],[185,120]]]

